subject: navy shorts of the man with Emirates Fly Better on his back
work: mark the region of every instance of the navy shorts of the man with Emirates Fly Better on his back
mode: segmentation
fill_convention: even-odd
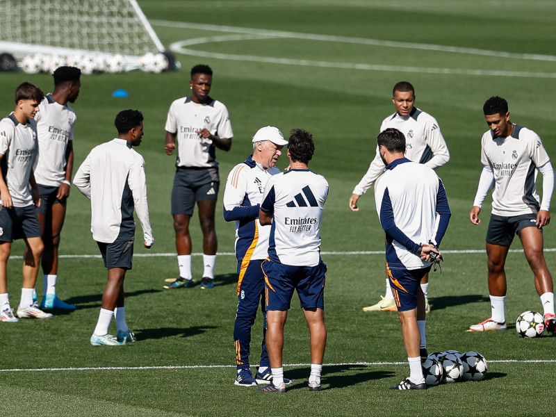
[[[267,311],[289,310],[294,290],[297,290],[302,308],[325,308],[327,266],[322,260],[316,266],[293,266],[267,259],[261,268],[265,275]]]

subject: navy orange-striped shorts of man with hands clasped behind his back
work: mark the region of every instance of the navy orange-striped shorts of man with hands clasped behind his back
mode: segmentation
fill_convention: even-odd
[[[398,311],[409,311],[417,308],[417,292],[421,278],[430,271],[430,266],[418,270],[388,270],[390,288]]]

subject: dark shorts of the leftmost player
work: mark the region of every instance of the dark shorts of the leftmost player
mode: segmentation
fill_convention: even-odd
[[[40,224],[35,206],[0,206],[0,242],[13,242],[22,238],[40,238]]]

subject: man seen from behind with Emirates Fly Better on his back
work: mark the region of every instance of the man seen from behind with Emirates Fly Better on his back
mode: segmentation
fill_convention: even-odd
[[[259,391],[286,392],[282,366],[284,325],[297,291],[311,338],[309,391],[320,391],[325,355],[325,281],[320,259],[320,222],[328,182],[309,170],[315,144],[311,133],[294,129],[288,140],[290,169],[268,179],[259,211],[261,224],[272,224],[268,259],[263,262],[268,329],[266,347],[272,381]]]

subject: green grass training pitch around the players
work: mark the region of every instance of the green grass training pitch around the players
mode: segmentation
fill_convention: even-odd
[[[74,104],[78,116],[76,167],[95,145],[115,136],[113,120],[124,108],[145,115],[138,152],[147,164],[149,208],[156,243],[136,245],[126,279],[126,310],[138,342],[92,347],[106,270],[90,235],[88,200],[72,188],[63,229],[58,294],[77,305],[54,319],[0,324],[0,411],[6,416],[553,416],[555,338],[520,338],[518,314],[541,310],[521,245],[507,261],[507,332],[467,333],[490,314],[483,224],[468,220],[479,179],[480,137],[487,129],[482,104],[491,95],[509,101],[512,121],[541,136],[556,155],[556,3],[532,1],[419,0],[142,0],[162,42],[174,44],[182,69],[165,74],[83,76]],[[186,42],[188,41],[188,42]],[[285,395],[234,386],[236,309],[234,224],[217,207],[217,285],[163,290],[177,276],[170,190],[174,156],[163,151],[164,123],[173,99],[188,94],[189,69],[213,68],[211,95],[229,108],[234,126],[230,152],[218,152],[222,181],[252,149],[261,126],[284,133],[307,129],[316,140],[311,169],[330,183],[322,225],[322,259],[329,272],[329,331],[322,382],[309,393],[309,338],[302,313],[292,309],[285,332]],[[442,274],[432,275],[427,316],[430,352],[476,350],[489,361],[481,382],[447,384],[425,392],[388,387],[407,376],[395,313],[363,313],[384,294],[384,233],[370,191],[361,210],[347,207],[353,186],[375,152],[379,124],[393,113],[391,88],[402,80],[416,88],[416,106],[436,117],[450,153],[438,170],[452,220],[443,240]],[[0,114],[13,110],[23,82],[52,88],[51,76],[0,74]],[[117,88],[128,98],[115,99]],[[279,161],[287,165],[286,158]],[[75,167],[75,170],[76,170]],[[222,183],[222,190],[224,184]],[[555,270],[555,226],[546,229],[549,268]],[[193,252],[201,233],[192,222]],[[138,227],[138,242],[141,231]],[[8,263],[12,306],[19,302],[21,254]],[[358,252],[358,253],[354,253]],[[363,252],[363,253],[361,253]],[[200,256],[193,258],[196,279]],[[42,272],[38,279],[42,293]],[[113,324],[114,326],[114,324]],[[252,363],[260,354],[262,320],[253,330]]]

